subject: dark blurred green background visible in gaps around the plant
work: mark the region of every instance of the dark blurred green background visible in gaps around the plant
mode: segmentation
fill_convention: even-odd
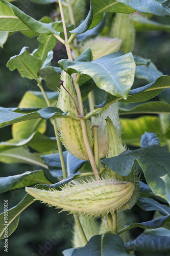
[[[20,1],[16,1],[15,5],[19,6]],[[30,3],[30,2],[29,2]],[[40,19],[45,15],[55,15],[56,5],[36,5],[30,3],[29,8],[25,8],[25,12],[35,19]],[[88,10],[88,9],[87,9]],[[152,20],[162,24],[170,25],[170,19],[165,17],[153,16]],[[7,61],[11,56],[19,54],[22,47],[28,46],[30,52],[38,47],[36,38],[28,38],[21,33],[10,35],[4,48],[0,48],[0,105],[9,108],[16,107],[28,90],[37,90],[33,80],[21,78],[17,70],[9,71],[6,67]],[[170,34],[162,31],[137,32],[136,42],[133,53],[144,58],[149,58],[155,63],[157,68],[164,75],[170,75]],[[58,52],[57,50],[60,49]],[[54,49],[54,60],[65,58],[65,50],[58,42]],[[50,90],[47,87],[46,90]],[[103,92],[102,92],[103,93]],[[101,103],[99,90],[96,91],[96,103]],[[136,116],[135,116],[136,117]],[[54,132],[50,122],[47,125],[48,136],[54,136]],[[0,140],[6,141],[11,139],[11,127],[7,126],[0,131]],[[34,166],[27,164],[4,164],[0,163],[1,177],[23,173],[27,170],[33,170]],[[26,195],[24,189],[12,190],[1,195],[0,211],[4,211],[4,200],[8,199],[8,207],[11,208],[18,204]],[[71,227],[74,222],[71,215],[62,212],[58,215],[59,210],[47,208],[44,204],[36,202],[27,210],[23,211],[17,229],[8,238],[9,255],[13,256],[60,256],[62,250],[71,247]],[[133,214],[136,222],[150,220],[153,212],[144,212],[137,206],[133,208]],[[147,216],[146,216],[147,215]],[[132,216],[131,216],[132,217]],[[139,234],[140,229],[135,232]],[[133,236],[133,234],[132,234]],[[4,240],[0,241],[0,253],[4,252]],[[140,255],[140,253],[138,253]],[[155,254],[156,255],[156,254]]]

